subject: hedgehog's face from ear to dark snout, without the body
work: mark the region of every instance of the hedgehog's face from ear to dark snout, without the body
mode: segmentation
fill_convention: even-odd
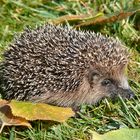
[[[93,94],[92,102],[109,97],[115,99],[118,95],[123,98],[132,98],[127,78],[123,72],[105,73],[97,70],[89,72],[88,81]]]

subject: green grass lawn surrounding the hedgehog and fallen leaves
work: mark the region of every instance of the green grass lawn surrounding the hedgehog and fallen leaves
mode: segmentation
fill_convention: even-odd
[[[30,25],[44,24],[51,19],[63,15],[80,15],[87,13],[113,14],[129,9],[138,9],[138,0],[2,0],[0,1],[0,54],[13,40],[14,34],[22,32]],[[137,95],[137,99],[116,102],[104,100],[98,106],[81,107],[79,117],[71,118],[63,124],[36,121],[32,122],[32,129],[23,127],[6,127],[0,136],[1,140],[88,140],[89,130],[105,133],[120,127],[140,127],[140,14],[137,12],[126,19],[115,23],[92,25],[81,29],[95,30],[110,36],[118,37],[126,44],[131,52],[131,62],[128,66],[130,85]],[[72,23],[64,23],[75,25]],[[2,59],[2,57],[0,57]]]

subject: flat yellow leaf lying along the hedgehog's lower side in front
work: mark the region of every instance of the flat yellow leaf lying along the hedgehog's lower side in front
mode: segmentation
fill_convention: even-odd
[[[20,116],[26,120],[52,120],[64,122],[74,116],[71,108],[51,106],[43,103],[30,103],[12,100],[9,104],[14,116]]]

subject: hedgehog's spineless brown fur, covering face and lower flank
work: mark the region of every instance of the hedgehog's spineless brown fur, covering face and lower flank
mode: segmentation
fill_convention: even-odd
[[[121,67],[120,69],[119,67],[110,71],[105,71],[104,69],[103,72],[100,70],[90,68],[75,92],[52,94],[47,91],[43,97],[31,100],[59,106],[76,107],[80,104],[95,104],[105,97],[115,98],[121,95],[124,98],[129,98],[133,94],[125,77],[124,68]],[[105,80],[110,80],[111,83],[104,85]]]

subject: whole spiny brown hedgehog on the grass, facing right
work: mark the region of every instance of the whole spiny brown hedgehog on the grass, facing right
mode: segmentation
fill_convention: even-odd
[[[129,54],[118,39],[68,26],[26,28],[1,62],[3,97],[64,107],[132,98]]]

